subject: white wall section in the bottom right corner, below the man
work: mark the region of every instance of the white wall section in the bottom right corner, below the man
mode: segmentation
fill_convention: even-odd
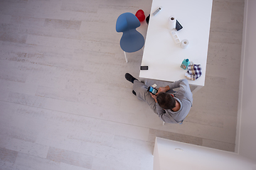
[[[154,170],[252,170],[256,163],[234,152],[189,145],[156,137]]]

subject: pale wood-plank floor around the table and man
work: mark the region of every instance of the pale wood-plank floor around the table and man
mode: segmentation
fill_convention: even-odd
[[[156,136],[234,152],[244,1],[213,1],[206,86],[183,125],[163,126],[124,79],[142,50],[125,62],[115,22],[140,8],[151,1],[0,0],[1,169],[149,170]]]

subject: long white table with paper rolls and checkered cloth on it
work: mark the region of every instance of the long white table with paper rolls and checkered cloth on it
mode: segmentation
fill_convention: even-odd
[[[141,70],[141,79],[156,79],[161,81],[177,81],[186,79],[181,62],[188,58],[194,64],[201,64],[202,76],[195,81],[189,81],[196,86],[193,93],[205,84],[206,61],[210,33],[210,17],[213,0],[153,0],[149,26],[146,33],[142,65],[149,66]],[[157,8],[161,11],[153,16]],[[177,32],[180,40],[187,39],[186,49],[174,42],[168,29],[170,16],[175,16],[183,26]]]

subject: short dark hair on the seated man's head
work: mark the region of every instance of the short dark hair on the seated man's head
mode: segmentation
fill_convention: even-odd
[[[157,103],[159,106],[164,109],[172,109],[175,108],[176,101],[171,94],[159,93],[156,97]]]

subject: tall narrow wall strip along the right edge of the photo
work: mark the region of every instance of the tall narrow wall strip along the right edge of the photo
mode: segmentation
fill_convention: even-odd
[[[256,162],[256,1],[245,0],[235,152]]]

